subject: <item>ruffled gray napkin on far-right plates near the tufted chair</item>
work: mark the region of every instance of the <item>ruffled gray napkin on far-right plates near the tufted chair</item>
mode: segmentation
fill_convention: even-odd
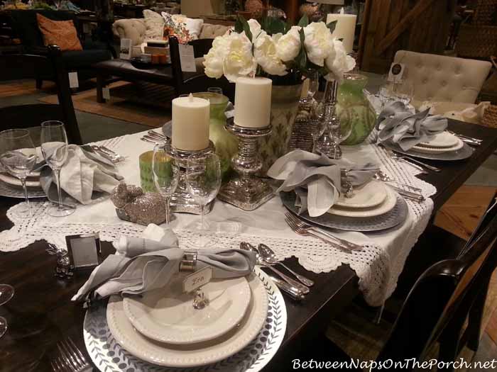
[[[378,143],[391,140],[402,150],[407,151],[421,142],[431,140],[437,133],[447,128],[447,118],[430,115],[427,109],[420,113],[410,113],[402,102],[387,105],[378,116]]]

